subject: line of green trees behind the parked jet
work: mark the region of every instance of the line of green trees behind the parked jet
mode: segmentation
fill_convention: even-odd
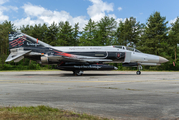
[[[170,26],[170,27],[169,27]],[[42,69],[47,66],[24,59],[19,63],[5,63],[9,55],[8,32],[17,28],[11,21],[0,24],[0,70],[7,69]],[[21,32],[52,46],[107,46],[125,45],[135,47],[144,53],[163,56],[169,62],[157,67],[146,66],[146,70],[178,70],[179,61],[177,43],[179,43],[179,18],[169,24],[160,12],[151,14],[146,23],[140,23],[134,17],[125,21],[116,21],[105,16],[100,21],[88,21],[82,31],[79,23],[74,26],[68,21],[47,24],[22,25]],[[115,64],[119,69],[121,64]],[[51,68],[51,66],[48,68]],[[131,69],[131,68],[130,68]]]

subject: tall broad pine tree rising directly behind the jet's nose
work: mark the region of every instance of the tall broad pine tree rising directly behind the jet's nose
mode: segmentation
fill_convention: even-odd
[[[167,22],[159,12],[150,15],[141,37],[140,50],[146,53],[162,55],[167,49]]]

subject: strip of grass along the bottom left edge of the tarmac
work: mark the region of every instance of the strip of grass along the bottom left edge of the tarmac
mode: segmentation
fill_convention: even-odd
[[[88,114],[59,110],[48,106],[3,107],[0,108],[0,120],[108,120]]]

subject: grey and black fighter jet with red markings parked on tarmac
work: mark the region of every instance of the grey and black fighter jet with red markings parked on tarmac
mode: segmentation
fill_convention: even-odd
[[[142,65],[156,66],[168,60],[164,57],[142,53],[126,46],[67,46],[56,47],[21,32],[9,32],[10,55],[5,62],[19,62],[29,58],[43,65],[57,65],[60,70],[82,75],[87,70],[116,70],[107,63],[122,63],[137,67],[141,74]]]

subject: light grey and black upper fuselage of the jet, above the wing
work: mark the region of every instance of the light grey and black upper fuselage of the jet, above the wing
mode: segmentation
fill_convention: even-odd
[[[52,48],[74,55],[112,59],[111,63],[137,62],[145,65],[159,65],[162,63],[160,62],[160,56],[142,53],[134,48],[127,50],[128,47],[125,46],[120,48],[118,46],[67,46]]]

